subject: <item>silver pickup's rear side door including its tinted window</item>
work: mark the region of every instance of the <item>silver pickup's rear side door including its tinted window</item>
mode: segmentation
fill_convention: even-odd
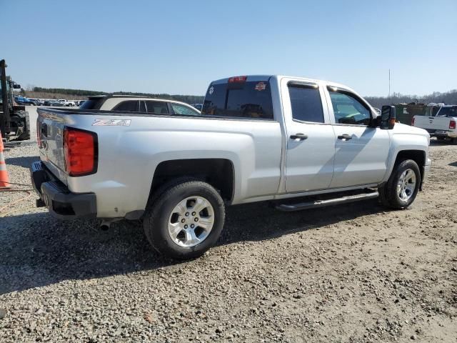
[[[286,122],[286,192],[327,189],[333,176],[335,134],[325,96],[315,82],[281,80]]]

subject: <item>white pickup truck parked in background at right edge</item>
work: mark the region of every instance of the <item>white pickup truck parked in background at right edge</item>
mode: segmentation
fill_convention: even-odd
[[[412,126],[426,129],[431,137],[457,144],[457,105],[443,105],[435,116],[413,116]]]

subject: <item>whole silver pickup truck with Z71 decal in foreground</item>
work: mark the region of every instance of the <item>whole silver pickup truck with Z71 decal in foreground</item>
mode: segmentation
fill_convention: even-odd
[[[396,124],[393,106],[378,115],[347,86],[300,77],[213,81],[201,113],[38,111],[37,205],[105,227],[141,219],[152,246],[178,259],[216,243],[227,205],[379,197],[404,209],[431,164],[430,136]]]

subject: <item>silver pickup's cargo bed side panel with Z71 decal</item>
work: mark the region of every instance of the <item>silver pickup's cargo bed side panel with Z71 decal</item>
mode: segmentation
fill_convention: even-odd
[[[130,123],[94,126],[100,117]],[[277,121],[39,109],[38,125],[39,129],[43,125],[54,128],[48,137],[42,137],[42,145],[47,146],[40,148],[44,164],[71,192],[95,192],[97,204],[104,204],[98,208],[111,212],[123,209],[117,213],[119,217],[144,209],[156,166],[173,159],[231,161],[236,179],[233,204],[278,192],[282,136]],[[64,156],[59,149],[64,126],[85,127],[104,137],[99,139],[98,172],[88,176],[91,182],[84,182],[87,177],[68,177],[64,172]],[[112,214],[98,214],[104,216]]]

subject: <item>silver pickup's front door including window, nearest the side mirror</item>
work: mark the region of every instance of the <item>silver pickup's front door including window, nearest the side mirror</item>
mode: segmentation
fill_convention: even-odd
[[[331,188],[378,184],[387,171],[388,130],[372,127],[370,107],[346,89],[328,87],[335,131],[335,168]]]

